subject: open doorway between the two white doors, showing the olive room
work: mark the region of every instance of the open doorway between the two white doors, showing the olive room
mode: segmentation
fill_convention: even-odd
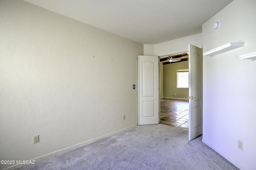
[[[160,57],[160,123],[188,130],[188,80],[181,86],[178,79],[184,73],[188,73],[188,53]]]

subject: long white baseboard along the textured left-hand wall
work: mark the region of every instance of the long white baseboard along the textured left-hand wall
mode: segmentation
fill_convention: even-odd
[[[37,160],[40,160],[40,159],[42,159],[42,158],[46,158],[46,157],[48,157],[48,156],[51,156],[51,155],[54,155],[54,154],[58,154],[58,153],[60,153],[60,152],[66,151],[66,150],[73,149],[73,148],[75,148],[75,147],[79,147],[79,146],[84,145],[84,144],[86,144],[86,143],[91,143],[91,142],[100,140],[100,139],[102,139],[102,138],[108,137],[108,136],[110,136],[110,135],[114,135],[114,134],[116,134],[116,133],[118,133],[118,132],[124,131],[124,130],[126,130],[126,129],[129,129],[129,128],[135,127],[135,126],[137,126],[137,125],[132,125],[132,126],[130,126],[130,127],[126,127],[126,128],[121,129],[121,130],[119,130],[119,131],[115,131],[115,132],[112,132],[112,133],[109,133],[109,134],[106,134],[106,135],[103,135],[103,136],[100,136],[100,137],[96,137],[96,138],[94,138],[94,139],[91,139],[91,140],[88,140],[88,141],[85,141],[85,142],[82,142],[82,143],[78,143],[78,144],[73,145],[73,146],[71,146],[71,147],[67,147],[67,148],[64,148],[64,149],[61,149],[61,150],[57,150],[57,151],[55,151],[55,152],[52,152],[52,153],[49,153],[49,154],[40,156],[40,157],[38,157],[38,158],[31,159],[31,160],[35,160],[35,162],[36,162]],[[24,166],[24,165],[18,164],[18,165],[14,165],[14,166],[10,166],[10,167],[8,167],[8,168],[5,168],[5,169],[3,169],[3,170],[12,170],[12,169],[15,169],[15,168],[18,168],[18,167],[22,167],[22,166]]]

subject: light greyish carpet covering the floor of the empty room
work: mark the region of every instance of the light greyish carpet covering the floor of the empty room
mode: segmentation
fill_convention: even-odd
[[[20,170],[238,170],[188,131],[166,125],[132,127],[44,158]]]

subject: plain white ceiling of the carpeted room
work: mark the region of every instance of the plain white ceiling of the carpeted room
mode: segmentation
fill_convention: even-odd
[[[233,0],[24,0],[142,44],[197,33]]]

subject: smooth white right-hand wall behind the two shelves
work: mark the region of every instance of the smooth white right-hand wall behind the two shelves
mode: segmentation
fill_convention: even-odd
[[[203,142],[246,170],[256,167],[256,60],[238,56],[256,51],[255,7],[255,0],[234,0],[202,26],[203,52],[245,42],[239,49],[203,57]],[[212,28],[216,21],[217,30]]]

